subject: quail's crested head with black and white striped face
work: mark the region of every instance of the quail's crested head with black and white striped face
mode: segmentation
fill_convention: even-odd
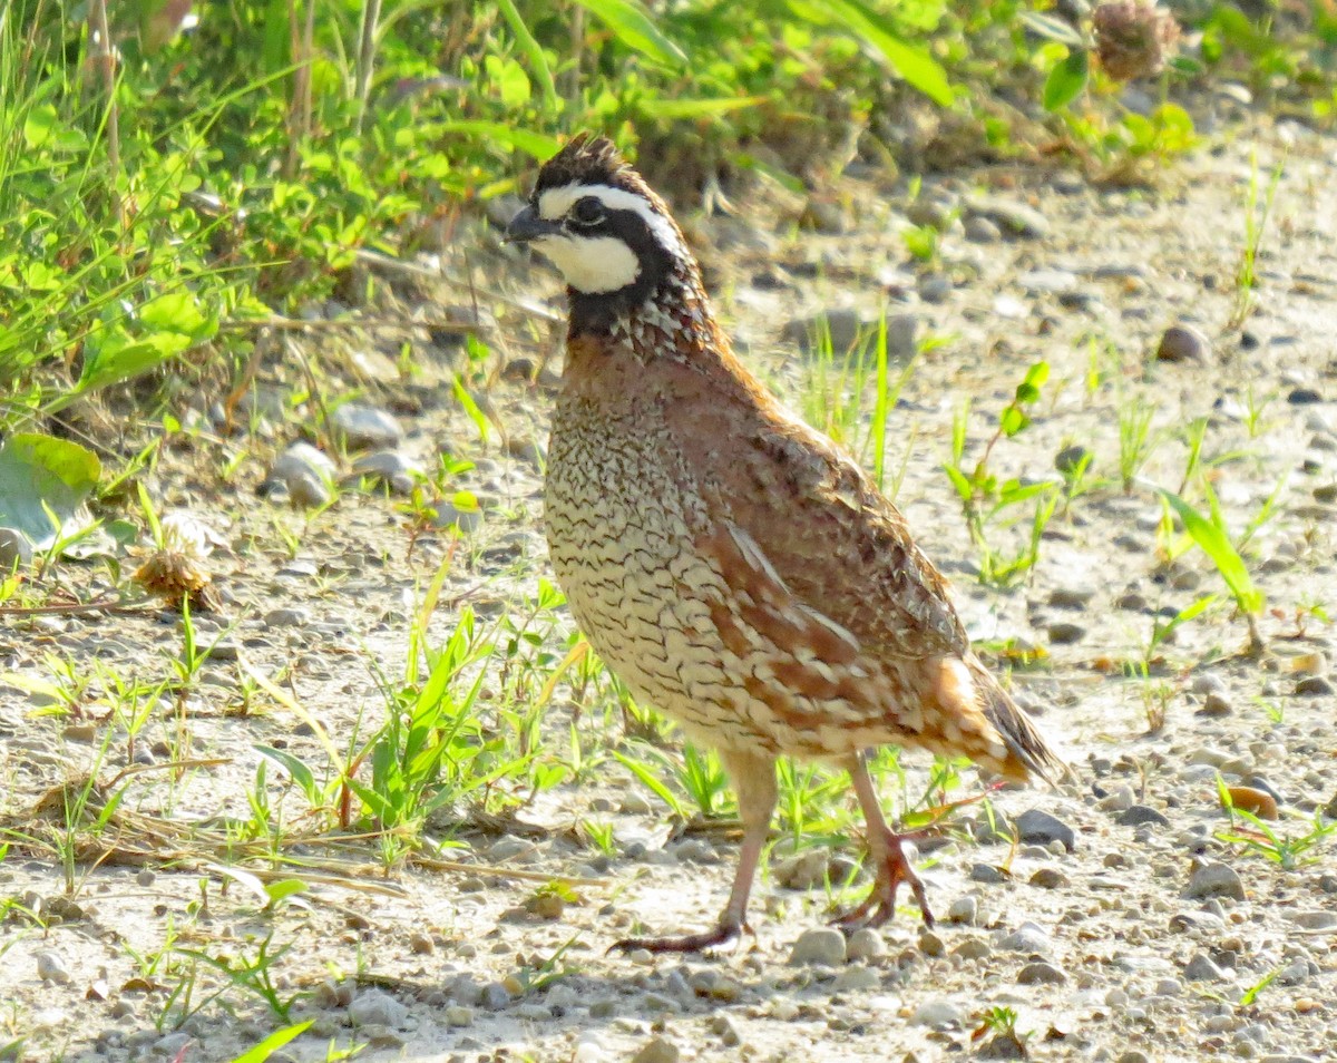
[[[634,308],[694,269],[663,201],[603,136],[580,134],[544,163],[507,229],[547,257],[576,297]]]

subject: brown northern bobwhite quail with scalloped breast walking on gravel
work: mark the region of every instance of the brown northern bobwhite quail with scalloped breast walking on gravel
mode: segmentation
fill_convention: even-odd
[[[568,285],[545,489],[558,580],[631,693],[719,750],[743,822],[714,929],[618,944],[738,936],[781,755],[842,765],[864,810],[877,880],[838,921],[884,923],[906,882],[932,925],[865,751],[965,754],[1015,780],[1062,762],[971,650],[896,507],[734,356],[682,230],[610,140],[550,159],[508,237]]]

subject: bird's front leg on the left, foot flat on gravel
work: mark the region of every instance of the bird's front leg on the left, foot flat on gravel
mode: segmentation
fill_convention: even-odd
[[[630,952],[701,952],[733,941],[747,925],[747,897],[751,893],[757,864],[770,830],[770,814],[775,810],[775,758],[751,753],[719,753],[725,769],[738,792],[738,814],[743,821],[743,844],[738,853],[738,870],[729,892],[729,904],[719,915],[714,929],[689,933],[686,937],[626,937],[612,948]],[[611,952],[612,949],[610,949]]]

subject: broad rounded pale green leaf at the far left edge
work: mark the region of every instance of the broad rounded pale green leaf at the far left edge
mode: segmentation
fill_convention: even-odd
[[[0,527],[20,532],[33,550],[48,548],[76,523],[100,475],[98,456],[78,443],[11,436],[0,444]]]

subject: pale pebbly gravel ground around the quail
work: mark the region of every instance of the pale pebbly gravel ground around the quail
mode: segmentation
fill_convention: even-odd
[[[1257,174],[1266,185],[1284,155],[1257,305],[1242,328],[1227,329],[1249,183]],[[104,702],[90,695],[75,711],[51,711],[48,698],[9,677],[0,816],[11,829],[62,837],[60,786],[87,776],[108,734],[102,781],[142,774],[110,821],[119,848],[98,866],[74,864],[72,893],[56,842],[16,840],[0,862],[0,1000],[12,1001],[0,1012],[0,1044],[5,1028],[27,1039],[0,1058],[233,1059],[285,1023],[234,988],[174,1028],[171,1007],[198,1007],[219,983],[205,967],[191,985],[189,956],[163,948],[254,956],[266,936],[286,948],[271,967],[277,995],[299,995],[290,1018],[312,1020],[273,1059],[341,1058],[332,1044],[364,1046],[365,1060],[1337,1058],[1337,834],[1318,837],[1337,820],[1337,650],[1324,612],[1337,604],[1334,175],[1337,140],[1267,127],[1205,152],[1155,191],[992,168],[925,178],[906,202],[904,187],[852,178],[821,214],[828,230],[842,231],[796,234],[792,205],[765,199],[761,222],[690,226],[741,350],[796,406],[812,370],[782,340],[785,326],[797,337],[826,312],[836,330],[889,301],[893,353],[913,337],[940,341],[916,362],[893,413],[888,464],[904,461],[898,501],[952,578],[972,635],[995,654],[1039,658],[1013,683],[1067,750],[1076,781],[995,792],[924,842],[920,865],[940,916],[933,931],[906,909],[893,925],[846,940],[825,927],[826,891],[793,887],[848,865],[857,840],[797,861],[777,845],[758,882],[755,937],[738,949],[606,955],[638,924],[706,925],[737,853],[729,832],[675,829],[611,759],[515,821],[471,822],[457,836],[468,866],[382,874],[378,850],[364,846],[352,858],[345,852],[330,881],[312,876],[305,905],[265,911],[258,882],[219,870],[225,850],[210,861],[198,833],[187,845],[163,825],[215,817],[221,832],[227,820],[217,817],[249,816],[258,743],[320,761],[309,723],[257,691],[247,667],[283,670],[282,689],[340,749],[365,734],[384,714],[373,667],[402,673],[412,595],[449,543],[422,535],[406,559],[397,500],[374,491],[346,488],[310,519],[283,500],[320,501],[328,491],[310,475],[318,459],[309,453],[274,468],[301,419],[317,416],[301,405],[274,416],[303,384],[299,374],[262,374],[257,432],[239,440],[218,439],[207,410],[193,413],[183,396],[179,416],[198,431],[168,440],[146,484],[163,509],[203,513],[223,543],[210,559],[223,606],[197,619],[198,639],[219,646],[187,705],[197,762],[167,778],[176,726],[168,711],[155,710],[130,750]],[[943,226],[937,263],[906,261],[898,230],[908,215]],[[484,245],[469,253],[495,263],[495,287],[555,289]],[[504,444],[496,433],[480,440],[452,398],[459,353],[449,337],[417,349],[412,381],[396,372],[397,349],[374,337],[365,349],[337,333],[316,338],[346,366],[332,390],[362,394],[365,408],[345,408],[337,424],[364,461],[378,463],[364,469],[400,476],[404,487],[414,464],[432,468],[441,452],[475,463],[459,485],[480,496],[483,517],[456,551],[433,638],[449,634],[463,603],[483,618],[523,612],[547,572],[539,468],[551,376],[544,368],[537,385],[525,377],[552,353],[556,333],[500,298],[493,309],[500,372],[488,412],[507,429]],[[1163,344],[1171,326],[1185,330]],[[1001,479],[1044,477],[1056,475],[1056,460],[1086,452],[1090,489],[1051,520],[1031,578],[999,591],[977,578],[980,552],[941,463],[963,400],[973,401],[973,464],[1042,358],[1051,377],[1034,424],[1000,441],[991,464]],[[1126,493],[1119,421],[1138,404],[1158,445]],[[1238,536],[1274,499],[1246,551],[1266,595],[1261,657],[1243,653],[1246,626],[1210,562],[1198,551],[1170,560],[1158,539],[1162,507],[1148,484],[1179,487],[1183,433],[1195,419],[1207,419],[1202,463],[1231,531]],[[267,479],[285,488],[261,497]],[[1019,527],[991,525],[1000,548],[1024,542],[1028,513]],[[103,568],[63,568],[90,591],[106,582]],[[1158,618],[1213,592],[1211,608],[1152,643]],[[0,667],[28,679],[49,681],[68,662],[76,678],[154,682],[180,650],[174,614],[4,623]],[[540,632],[547,644],[564,644],[563,623]],[[1146,677],[1128,678],[1124,662],[1142,662]],[[495,689],[489,679],[485,697]],[[544,725],[554,742],[566,741],[568,705],[559,691]],[[602,718],[580,726],[598,737]],[[917,794],[927,765],[908,762]],[[1269,826],[1285,852],[1218,837],[1231,829],[1218,778],[1237,788],[1237,805],[1275,809]],[[299,829],[277,770],[262,792],[287,801],[289,826]],[[980,793],[964,773],[957,794]],[[898,800],[888,794],[893,810]],[[574,828],[591,818],[612,826],[611,853],[579,842]],[[1296,852],[1306,836],[1314,848]],[[1270,858],[1286,853],[1294,858]],[[536,889],[556,876],[588,881],[564,897]]]

